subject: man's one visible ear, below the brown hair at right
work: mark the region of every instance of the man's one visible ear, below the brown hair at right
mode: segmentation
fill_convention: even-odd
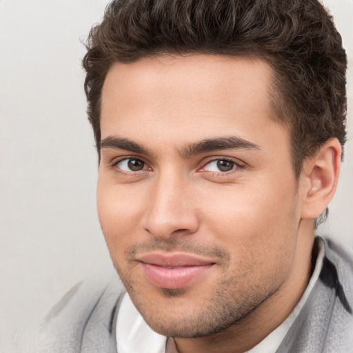
[[[338,139],[330,139],[314,157],[304,161],[301,218],[315,219],[332,200],[341,170],[341,152]]]

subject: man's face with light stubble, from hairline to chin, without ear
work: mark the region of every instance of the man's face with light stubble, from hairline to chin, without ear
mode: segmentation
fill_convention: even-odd
[[[218,332],[281,292],[301,203],[288,130],[260,60],[195,54],[115,63],[97,188],[110,255],[166,336]]]

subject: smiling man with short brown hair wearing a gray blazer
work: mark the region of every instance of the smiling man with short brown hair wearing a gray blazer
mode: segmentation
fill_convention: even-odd
[[[121,282],[69,292],[35,351],[352,352],[352,250],[314,235],[346,61],[319,1],[113,1],[83,66]]]

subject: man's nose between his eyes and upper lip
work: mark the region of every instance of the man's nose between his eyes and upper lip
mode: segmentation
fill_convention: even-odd
[[[145,212],[145,230],[158,239],[196,232],[199,218],[191,183],[175,173],[160,175],[154,181]]]

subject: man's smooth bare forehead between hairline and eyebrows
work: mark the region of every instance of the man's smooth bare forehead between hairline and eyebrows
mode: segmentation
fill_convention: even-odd
[[[192,142],[225,132],[250,141],[261,129],[273,134],[272,75],[260,59],[210,54],[114,63],[102,90],[101,136]]]

